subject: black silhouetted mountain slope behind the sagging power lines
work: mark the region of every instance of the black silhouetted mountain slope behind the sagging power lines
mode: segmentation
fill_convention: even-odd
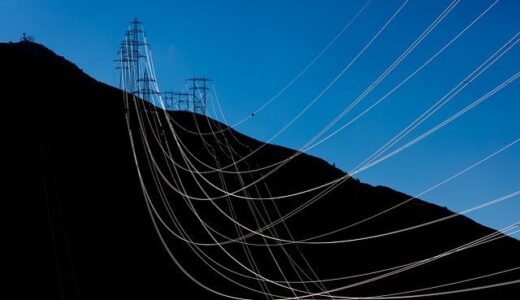
[[[4,247],[10,250],[4,259],[13,266],[3,268],[3,272],[6,275],[4,278],[8,278],[4,284],[12,289],[9,294],[14,295],[15,299],[220,299],[182,274],[157,236],[133,160],[122,92],[97,82],[64,58],[32,42],[0,44],[0,66],[4,122],[2,145],[5,151],[2,165],[3,177],[8,178],[2,198],[6,220],[9,220],[2,241]],[[141,110],[134,109],[132,104],[129,112],[131,127],[137,141],[137,153],[143,161],[146,184],[153,190],[153,174],[147,171],[144,163],[145,149],[137,131],[137,113],[150,117],[154,112],[150,105],[135,104]],[[170,116],[175,120],[175,129],[186,147],[210,165],[215,165],[215,161],[227,165],[231,162],[230,156],[238,158],[247,155],[251,149],[261,145],[254,139],[226,129],[224,124],[200,115],[172,112]],[[165,124],[164,118],[162,123]],[[210,126],[224,130],[216,136],[201,136],[179,126],[202,132],[208,131]],[[146,130],[149,139],[153,140],[150,128]],[[226,144],[236,152],[229,152]],[[175,145],[171,146],[175,149]],[[152,143],[152,151],[159,153],[160,149]],[[216,158],[212,157],[213,152]],[[257,168],[293,153],[287,148],[268,145],[240,163],[239,167]],[[176,161],[182,161],[178,151],[173,150],[172,155]],[[157,163],[163,165],[163,160],[160,158]],[[204,169],[199,164],[197,167]],[[281,195],[341,175],[341,170],[319,158],[300,155],[268,177],[267,183],[272,195]],[[181,172],[180,176],[191,194],[202,195],[191,175]],[[208,175],[208,178],[214,182],[219,180],[215,175]],[[229,190],[239,187],[234,176],[225,175],[224,179],[229,184]],[[252,178],[244,175],[244,180],[251,182]],[[157,197],[153,191],[151,193],[152,198]],[[214,190],[211,193],[218,195]],[[283,213],[317,193],[277,203]],[[201,240],[209,241],[206,235],[199,233],[200,226],[197,227],[182,199],[174,193],[168,196],[175,202],[175,214],[187,224],[187,230]],[[327,229],[352,224],[408,198],[386,187],[374,187],[349,179],[298,216],[290,218],[287,225],[293,231],[294,238],[303,239]],[[215,228],[233,232],[234,227],[211,205],[197,203],[196,208]],[[241,221],[255,227],[247,201],[236,200],[234,205],[242,216]],[[331,238],[363,237],[451,214],[445,208],[417,199]],[[424,259],[493,232],[464,216],[458,216],[388,237],[301,248],[309,261],[316,262],[313,265],[315,271],[330,278]],[[165,232],[163,234],[166,236]],[[256,238],[250,241],[261,242]],[[235,295],[261,298],[219,279],[191,254],[184,243],[174,238],[168,239],[167,243],[181,263],[201,281]],[[260,250],[253,251],[258,251],[260,268],[272,265]],[[215,259],[225,261],[222,255],[217,254],[218,250],[214,253],[211,255],[215,255]],[[240,255],[238,248],[236,253]],[[370,296],[393,293],[516,266],[520,266],[520,242],[504,237],[402,274],[349,289],[345,294]],[[269,269],[265,267],[263,274],[276,277]],[[518,278],[520,271],[517,270],[445,289]],[[359,279],[346,282],[356,281]],[[327,286],[337,285],[331,283]],[[444,289],[426,292],[441,290]],[[516,284],[430,298],[518,299],[519,295],[520,286]]]

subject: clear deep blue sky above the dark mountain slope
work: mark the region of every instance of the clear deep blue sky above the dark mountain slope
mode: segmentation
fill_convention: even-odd
[[[411,0],[356,64],[274,143],[299,148],[365,90],[451,0]],[[494,0],[462,0],[339,124],[351,120],[459,33]],[[143,21],[162,90],[212,78],[230,123],[290,81],[365,0],[1,0],[0,41],[26,31],[96,79],[117,85],[113,60],[134,17]],[[374,0],[301,80],[237,129],[269,139],[360,51],[402,0]],[[501,0],[457,42],[363,118],[311,154],[349,171],[425,111],[520,30],[520,1]],[[417,128],[428,130],[520,71],[520,43]],[[59,83],[57,83],[59,84]],[[88,104],[86,104],[88,105]],[[520,137],[520,80],[434,135],[358,177],[417,194]],[[423,198],[460,211],[520,189],[520,143]],[[319,174],[317,174],[319,176]],[[501,228],[520,221],[520,197],[469,215]],[[518,237],[518,235],[517,235]]]

